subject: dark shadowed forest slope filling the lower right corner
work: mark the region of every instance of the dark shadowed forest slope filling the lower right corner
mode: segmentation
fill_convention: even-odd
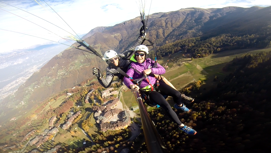
[[[223,68],[232,73],[209,94],[198,97],[198,102],[187,104],[192,112],[175,109],[182,123],[197,130],[194,136],[177,130],[162,109],[152,110],[150,116],[167,147],[165,152],[269,152],[270,57],[271,52],[261,52],[235,58]],[[133,152],[139,148],[136,146],[132,145]],[[139,149],[139,152],[147,150]]]

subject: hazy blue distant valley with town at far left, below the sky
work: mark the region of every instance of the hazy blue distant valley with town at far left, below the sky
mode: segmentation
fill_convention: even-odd
[[[13,94],[34,72],[67,47],[62,44],[42,45],[0,55],[0,100]]]

